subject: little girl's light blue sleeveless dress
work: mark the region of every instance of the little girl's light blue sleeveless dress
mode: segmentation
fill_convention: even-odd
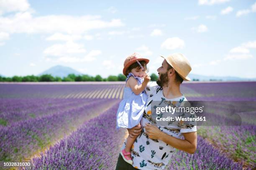
[[[129,73],[128,78],[133,76],[138,85],[140,85],[144,79],[135,77],[133,73]],[[123,100],[119,103],[117,116],[116,116],[116,129],[119,128],[133,128],[141,121],[145,105],[147,101],[146,92],[143,90],[139,95],[136,95],[130,87],[124,87]]]

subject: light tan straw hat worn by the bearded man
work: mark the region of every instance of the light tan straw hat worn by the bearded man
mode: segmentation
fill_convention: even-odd
[[[174,53],[163,58],[166,60],[166,62],[168,62],[169,65],[174,68],[175,71],[177,71],[183,80],[190,81],[190,78],[187,77],[187,75],[192,69],[189,61],[187,60],[187,57],[185,57],[182,53]]]

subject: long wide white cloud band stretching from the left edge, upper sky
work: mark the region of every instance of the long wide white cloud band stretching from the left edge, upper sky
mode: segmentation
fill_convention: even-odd
[[[99,15],[45,15],[33,17],[31,13],[17,13],[0,17],[0,31],[8,33],[55,33],[82,34],[88,30],[121,27],[120,19],[104,21]]]

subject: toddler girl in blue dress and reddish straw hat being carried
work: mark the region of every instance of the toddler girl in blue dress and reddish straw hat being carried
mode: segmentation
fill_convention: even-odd
[[[128,56],[124,62],[123,74],[127,77],[123,100],[120,102],[116,118],[116,128],[133,128],[140,125],[147,101],[144,91],[150,77],[146,74],[149,60],[141,58],[138,53]],[[125,149],[120,154],[127,163],[133,164],[131,147],[136,138],[127,137]]]

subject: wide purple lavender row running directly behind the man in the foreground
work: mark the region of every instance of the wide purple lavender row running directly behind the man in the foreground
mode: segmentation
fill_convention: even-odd
[[[30,170],[38,169],[115,169],[119,147],[124,131],[115,130],[114,105],[99,117],[85,123],[67,139],[51,147],[41,157],[33,159]],[[111,149],[110,149],[111,148]],[[194,155],[184,152],[174,155],[166,169],[230,169],[241,170],[242,165],[222,155],[212,145],[198,137],[197,151]]]

